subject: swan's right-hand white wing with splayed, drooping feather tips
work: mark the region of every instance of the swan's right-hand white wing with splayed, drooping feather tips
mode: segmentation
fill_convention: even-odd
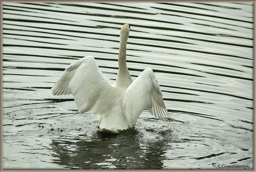
[[[162,97],[158,81],[150,68],[145,69],[126,90],[123,106],[126,107],[125,117],[129,124],[135,124],[144,109],[152,115],[169,123],[171,118]]]

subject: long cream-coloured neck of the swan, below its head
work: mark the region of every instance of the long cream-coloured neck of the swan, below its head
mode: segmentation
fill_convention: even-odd
[[[126,45],[128,40],[129,32],[120,32],[120,45],[118,54],[118,72],[116,77],[116,86],[129,86],[132,83],[132,77],[126,65]]]

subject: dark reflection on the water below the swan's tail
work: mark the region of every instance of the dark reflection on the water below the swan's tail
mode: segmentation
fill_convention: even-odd
[[[165,132],[168,132],[168,135],[172,133]],[[159,135],[158,139],[145,140],[144,137],[148,136],[136,129],[124,131],[122,134],[91,134],[90,140],[76,142],[65,136],[54,139],[51,146],[56,153],[54,157],[58,158],[56,163],[82,169],[160,169],[163,168],[163,160],[166,158],[163,154],[171,147],[168,146],[169,140],[164,139],[159,133],[156,133]],[[87,134],[79,136],[88,137]]]

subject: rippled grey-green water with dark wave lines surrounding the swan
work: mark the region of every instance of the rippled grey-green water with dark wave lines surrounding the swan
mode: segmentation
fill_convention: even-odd
[[[50,91],[88,55],[113,84],[124,23],[132,78],[153,69],[170,126],[144,111],[133,129],[100,133]],[[3,3],[3,169],[225,165],[253,168],[252,3]]]

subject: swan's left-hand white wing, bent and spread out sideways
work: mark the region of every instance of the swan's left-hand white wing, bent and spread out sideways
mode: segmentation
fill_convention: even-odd
[[[111,85],[92,56],[83,57],[66,69],[51,88],[53,95],[73,94],[80,113],[84,113],[107,93]]]

